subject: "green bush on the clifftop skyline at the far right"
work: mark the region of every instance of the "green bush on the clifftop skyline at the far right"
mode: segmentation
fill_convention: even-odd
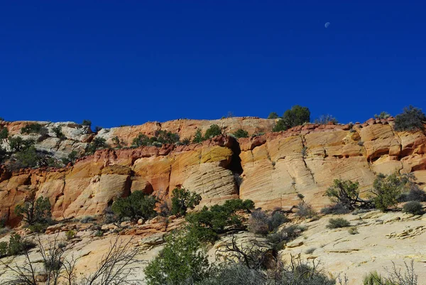
[[[426,121],[422,109],[409,106],[404,108],[402,114],[395,117],[395,131],[418,131],[423,130],[423,122]]]

